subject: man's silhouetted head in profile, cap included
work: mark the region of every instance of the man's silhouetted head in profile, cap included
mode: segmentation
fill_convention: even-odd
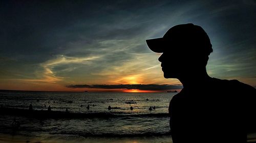
[[[146,40],[148,47],[163,53],[159,61],[165,78],[179,78],[205,69],[212,52],[208,35],[191,23],[171,27],[162,38]]]

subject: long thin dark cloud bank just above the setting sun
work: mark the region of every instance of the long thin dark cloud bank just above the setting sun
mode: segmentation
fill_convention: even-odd
[[[66,87],[71,89],[78,88],[90,88],[90,89],[127,89],[127,90],[172,90],[172,89],[182,89],[182,85],[168,85],[168,84],[82,84],[82,85],[66,85]]]

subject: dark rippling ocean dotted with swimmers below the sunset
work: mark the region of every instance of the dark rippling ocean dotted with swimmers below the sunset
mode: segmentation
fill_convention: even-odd
[[[159,137],[165,136],[171,142],[168,105],[175,94],[2,91],[0,105],[5,112],[0,117],[0,134],[64,140],[82,137],[90,138],[89,142],[102,137],[110,139],[106,142],[125,137],[158,137],[150,140],[164,142]],[[30,104],[33,110],[28,113]],[[49,106],[51,111],[47,111]],[[20,123],[17,128],[12,125],[14,119]]]

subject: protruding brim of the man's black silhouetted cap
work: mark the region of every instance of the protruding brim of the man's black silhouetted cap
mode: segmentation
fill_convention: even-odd
[[[164,50],[163,38],[147,39],[146,44],[154,52],[162,53]]]

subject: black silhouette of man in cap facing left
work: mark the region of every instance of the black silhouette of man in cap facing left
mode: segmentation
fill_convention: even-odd
[[[162,53],[158,60],[164,77],[183,84],[169,104],[174,143],[247,142],[247,133],[256,129],[256,89],[238,80],[208,76],[212,47],[201,26],[176,25],[162,38],[146,43]]]

